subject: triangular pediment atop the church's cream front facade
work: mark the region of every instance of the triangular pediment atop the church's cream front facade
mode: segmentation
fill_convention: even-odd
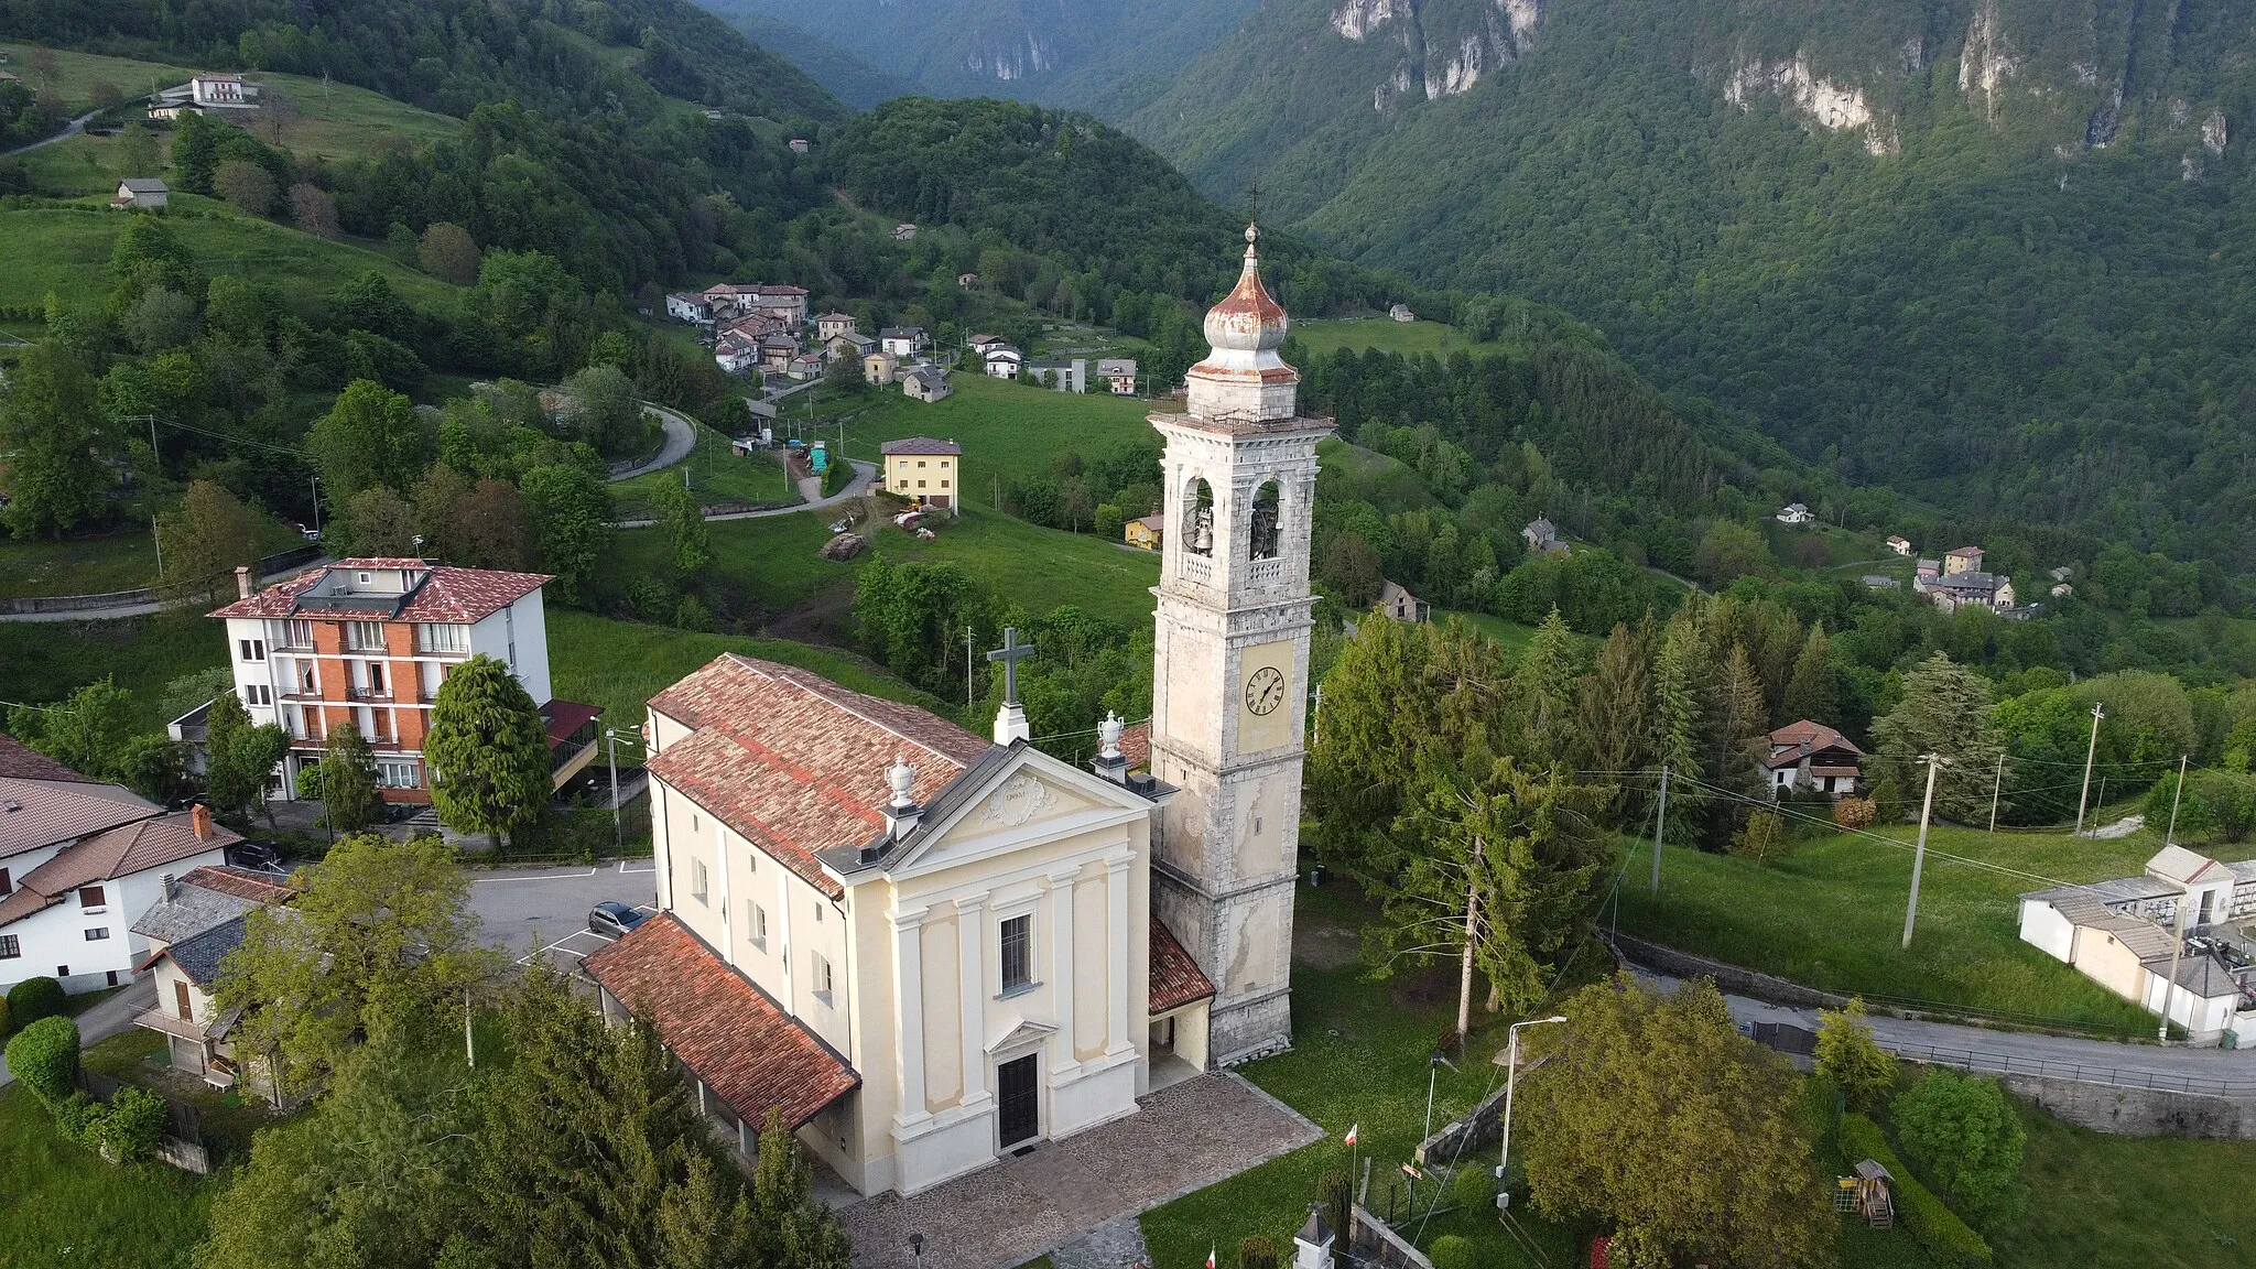
[[[952,806],[889,867],[893,876],[993,858],[1155,811],[1151,799],[1031,747],[990,772],[968,772],[972,777],[977,786],[948,790]]]

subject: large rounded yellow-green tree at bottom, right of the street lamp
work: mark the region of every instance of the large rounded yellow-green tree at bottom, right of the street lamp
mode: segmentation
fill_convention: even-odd
[[[1548,1219],[1615,1226],[1622,1264],[1834,1264],[1834,1215],[1794,1073],[1739,1034],[1715,984],[1629,975],[1577,991],[1521,1088],[1527,1185]],[[1667,1113],[1654,1113],[1667,1106]]]

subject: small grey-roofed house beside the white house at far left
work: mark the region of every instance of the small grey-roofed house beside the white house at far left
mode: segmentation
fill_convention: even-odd
[[[212,991],[219,962],[244,944],[244,919],[296,894],[277,874],[223,865],[162,878],[158,899],[133,921],[133,933],[149,939],[135,973],[156,978],[156,1007],[135,1014],[133,1025],[165,1036],[174,1070],[232,1088],[257,1066],[235,1052],[239,1018],[219,1009]]]

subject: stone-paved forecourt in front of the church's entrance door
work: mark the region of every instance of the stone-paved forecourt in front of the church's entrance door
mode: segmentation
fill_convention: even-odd
[[[1299,1149],[1322,1131],[1236,1075],[1160,1088],[1142,1111],[1006,1158],[914,1199],[880,1194],[839,1213],[857,1269],[916,1269],[909,1235],[925,1235],[923,1269],[1008,1269],[1121,1217],[1155,1208]],[[1076,1244],[1076,1269],[1114,1269],[1133,1255],[1130,1228]]]

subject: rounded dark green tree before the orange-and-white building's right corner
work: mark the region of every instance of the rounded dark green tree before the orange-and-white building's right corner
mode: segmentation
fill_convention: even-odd
[[[505,664],[476,655],[440,684],[424,736],[431,806],[456,833],[494,847],[548,811],[548,727]]]

